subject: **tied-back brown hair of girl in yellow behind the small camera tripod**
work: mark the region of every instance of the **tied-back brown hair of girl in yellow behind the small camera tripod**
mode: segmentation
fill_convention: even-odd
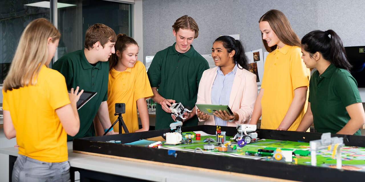
[[[119,33],[116,37],[117,38],[114,45],[115,53],[109,58],[109,70],[111,70],[118,63],[116,51],[119,51],[120,54],[122,54],[130,44],[135,44],[138,46],[137,42],[132,37],[128,37],[126,34]]]

